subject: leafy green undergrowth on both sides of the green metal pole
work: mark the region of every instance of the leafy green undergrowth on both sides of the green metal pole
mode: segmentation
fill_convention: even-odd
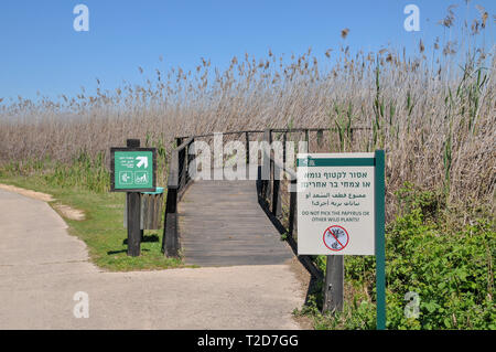
[[[494,220],[486,216],[450,230],[443,214],[451,210],[440,194],[409,183],[397,192],[403,214],[386,230],[387,328],[496,329]],[[325,269],[323,258],[316,263]],[[316,329],[375,329],[375,258],[347,256],[345,270],[343,312],[320,313],[320,284],[299,313],[312,316]],[[408,292],[418,295],[418,317],[407,317],[414,306]]]

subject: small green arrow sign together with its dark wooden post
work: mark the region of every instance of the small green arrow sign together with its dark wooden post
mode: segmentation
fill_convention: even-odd
[[[110,191],[127,192],[128,256],[139,256],[141,245],[141,193],[154,192],[157,151],[128,139],[127,148],[110,148]]]

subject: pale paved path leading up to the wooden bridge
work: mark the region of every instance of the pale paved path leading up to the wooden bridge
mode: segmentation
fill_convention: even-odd
[[[289,265],[105,273],[45,202],[0,190],[0,329],[299,329]],[[74,295],[89,318],[75,318]]]

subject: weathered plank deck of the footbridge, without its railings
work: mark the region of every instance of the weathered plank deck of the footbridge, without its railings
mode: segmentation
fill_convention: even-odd
[[[282,264],[293,257],[258,203],[256,181],[195,181],[177,215],[186,264]]]

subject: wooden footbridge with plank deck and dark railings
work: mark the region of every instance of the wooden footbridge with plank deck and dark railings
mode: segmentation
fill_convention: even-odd
[[[349,140],[367,129],[348,129]],[[295,184],[296,175],[285,166],[290,152],[285,142],[304,140],[309,151],[311,147],[312,151],[328,150],[333,142],[339,142],[332,136],[325,138],[324,132],[333,130],[295,128],[223,134],[224,141],[245,142],[246,172],[250,179],[234,181],[191,178],[194,142],[201,140],[213,146],[215,134],[176,138],[168,179],[164,254],[183,256],[186,264],[198,266],[281,264],[294,257],[296,193],[288,192],[288,184]],[[311,138],[313,135],[315,138]],[[250,151],[254,141],[270,145],[273,140],[282,141],[282,163],[270,149]],[[211,175],[223,167],[211,169]],[[281,235],[288,241],[281,241]],[[314,276],[322,276],[309,258],[300,260]]]

